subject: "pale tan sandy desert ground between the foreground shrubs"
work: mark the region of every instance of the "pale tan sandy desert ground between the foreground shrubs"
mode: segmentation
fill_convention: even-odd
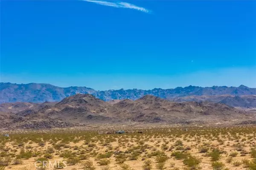
[[[106,166],[101,166],[97,162],[99,154],[112,152],[108,168],[111,170],[122,170],[120,163],[116,161],[117,153],[123,153],[127,156],[124,161],[130,168],[134,170],[143,170],[145,160],[152,161],[152,170],[157,170],[157,156],[150,156],[156,150],[163,152],[168,159],[165,161],[165,168],[172,170],[174,168],[188,168],[183,163],[184,159],[178,160],[172,156],[175,151],[190,153],[190,155],[201,159],[198,167],[202,170],[212,170],[211,157],[207,153],[211,153],[214,148],[222,151],[221,161],[229,170],[246,170],[245,164],[242,163],[244,159],[253,160],[250,150],[256,144],[256,127],[225,127],[225,128],[190,128],[188,131],[183,131],[180,128],[172,129],[143,129],[143,133],[128,134],[99,134],[97,132],[73,131],[73,132],[58,132],[58,133],[26,133],[26,134],[10,134],[9,138],[1,137],[0,145],[0,159],[9,157],[12,159],[8,166],[4,166],[6,170],[35,170],[35,161],[38,157],[44,157],[47,153],[52,155],[48,160],[52,164],[54,161],[67,161],[68,158],[61,157],[61,153],[69,150],[73,153],[71,158],[79,158],[79,155],[87,155],[87,159],[80,160],[75,165],[68,164],[64,169],[75,170],[84,169],[85,161],[92,161],[96,170],[103,170]],[[105,132],[103,132],[105,133]],[[52,141],[54,139],[54,141]],[[182,144],[177,145],[177,141]],[[39,141],[39,142],[38,142]],[[43,144],[40,144],[43,143]],[[64,144],[65,146],[56,149],[56,144]],[[207,147],[207,153],[200,153],[202,147]],[[241,146],[238,149],[238,146]],[[164,148],[165,147],[165,148]],[[179,148],[180,147],[180,148]],[[52,148],[52,153],[49,153],[49,148]],[[187,148],[187,149],[185,149]],[[15,157],[19,158],[20,151],[38,152],[39,155],[30,157],[28,159],[20,158],[22,164],[13,165]],[[130,150],[130,152],[129,152]],[[129,160],[132,151],[137,151],[139,155],[137,160]],[[233,157],[231,162],[227,162],[230,158],[230,153],[236,152],[237,155]],[[116,154],[115,154],[116,153]],[[145,160],[144,160],[145,159]],[[234,161],[239,161],[239,166],[234,165]],[[1,163],[1,161],[0,161]],[[37,164],[38,165],[38,164]],[[74,169],[75,168],[75,169]],[[45,169],[54,169],[47,167]]]

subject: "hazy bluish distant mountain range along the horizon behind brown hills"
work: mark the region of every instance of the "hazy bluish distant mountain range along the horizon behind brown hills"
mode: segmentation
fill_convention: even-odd
[[[0,83],[0,103],[6,102],[59,102],[62,99],[75,94],[92,94],[104,101],[113,99],[136,100],[145,95],[153,95],[162,99],[175,102],[209,101],[221,102],[233,107],[251,108],[256,107],[256,88],[244,85],[239,87],[212,86],[198,87],[188,86],[172,89],[154,88],[152,90],[120,89],[108,91],[96,91],[87,87],[61,88],[50,84],[29,83],[13,84]]]

